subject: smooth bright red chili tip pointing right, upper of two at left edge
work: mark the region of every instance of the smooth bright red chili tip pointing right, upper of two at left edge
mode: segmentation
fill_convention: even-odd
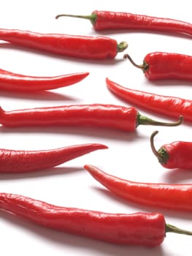
[[[0,90],[28,92],[58,89],[78,83],[88,75],[88,72],[81,72],[53,77],[35,77],[0,69]]]

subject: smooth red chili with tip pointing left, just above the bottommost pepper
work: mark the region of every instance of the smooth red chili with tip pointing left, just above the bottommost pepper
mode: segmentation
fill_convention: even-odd
[[[174,211],[192,211],[192,184],[155,184],[128,181],[104,173],[93,165],[85,169],[112,193],[130,202]]]

